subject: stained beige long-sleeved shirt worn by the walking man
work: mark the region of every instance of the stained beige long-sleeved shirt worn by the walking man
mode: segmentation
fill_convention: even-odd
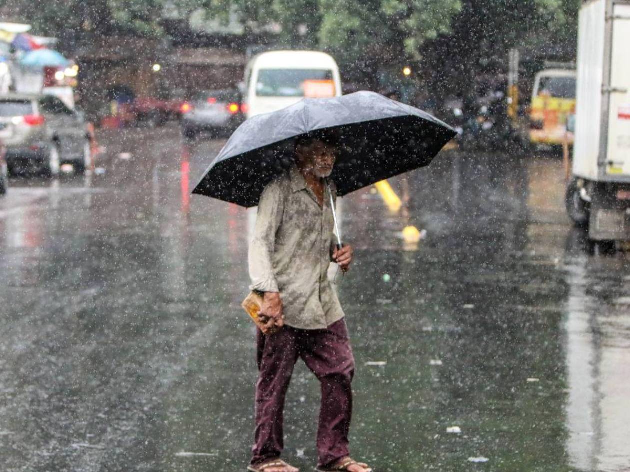
[[[332,182],[331,190],[336,201]],[[328,189],[322,207],[297,166],[263,191],[249,245],[249,288],[280,292],[289,326],[326,328],[344,316],[328,279],[334,227]]]

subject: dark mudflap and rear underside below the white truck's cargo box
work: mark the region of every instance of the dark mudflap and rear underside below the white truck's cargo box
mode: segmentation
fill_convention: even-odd
[[[630,240],[630,185],[598,183],[591,198],[588,238]]]

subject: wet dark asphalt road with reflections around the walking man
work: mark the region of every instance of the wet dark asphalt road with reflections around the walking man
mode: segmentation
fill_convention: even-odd
[[[99,139],[105,174],[14,179],[0,199],[1,469],[244,470],[253,215],[190,196],[222,141]],[[410,188],[408,218],[370,189],[340,203],[353,455],[377,472],[627,471],[630,255],[585,250],[561,161],[445,153]],[[427,230],[416,247],[406,225]],[[299,364],[285,459],[303,470],[318,402]]]

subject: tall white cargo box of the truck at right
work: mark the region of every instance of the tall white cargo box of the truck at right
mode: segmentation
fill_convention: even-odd
[[[630,1],[580,11],[573,174],[630,182]]]

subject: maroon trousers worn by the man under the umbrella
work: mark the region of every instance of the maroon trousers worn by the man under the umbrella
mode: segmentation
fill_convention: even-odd
[[[317,448],[319,465],[348,452],[355,362],[345,319],[326,329],[283,327],[272,335],[258,330],[256,430],[251,464],[277,458],[284,447],[284,399],[295,362],[302,357],[321,384]]]

